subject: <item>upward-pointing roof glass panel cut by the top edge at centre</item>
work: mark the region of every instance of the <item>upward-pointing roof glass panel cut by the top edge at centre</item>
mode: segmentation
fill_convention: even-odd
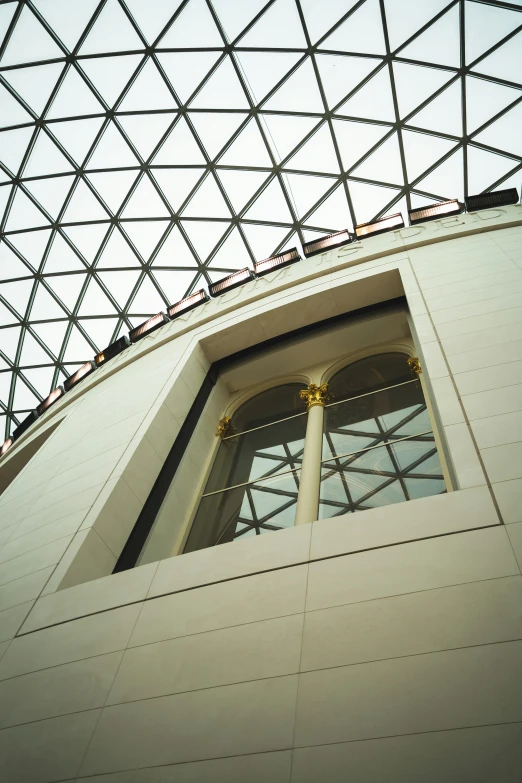
[[[239,45],[248,48],[270,46],[274,49],[305,49],[306,38],[295,3],[292,0],[276,0],[241,38]]]

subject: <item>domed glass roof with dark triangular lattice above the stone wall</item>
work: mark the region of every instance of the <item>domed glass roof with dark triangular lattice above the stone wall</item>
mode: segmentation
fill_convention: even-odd
[[[1,1],[5,436],[229,271],[519,186],[521,51],[522,0]]]

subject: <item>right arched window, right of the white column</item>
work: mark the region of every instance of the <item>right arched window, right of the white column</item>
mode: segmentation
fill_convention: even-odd
[[[320,519],[445,491],[422,386],[407,359],[371,356],[330,379]]]

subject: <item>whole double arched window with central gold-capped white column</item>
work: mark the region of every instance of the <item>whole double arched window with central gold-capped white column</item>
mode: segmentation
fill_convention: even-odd
[[[383,353],[320,386],[276,386],[225,419],[185,551],[445,492],[407,360]]]

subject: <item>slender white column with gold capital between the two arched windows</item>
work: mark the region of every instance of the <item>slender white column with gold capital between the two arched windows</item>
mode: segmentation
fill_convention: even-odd
[[[299,494],[295,512],[295,524],[315,522],[319,514],[319,492],[321,486],[321,457],[323,451],[323,412],[328,395],[328,385],[316,386],[300,392],[308,403],[308,421],[303,451],[303,463],[299,481]]]

